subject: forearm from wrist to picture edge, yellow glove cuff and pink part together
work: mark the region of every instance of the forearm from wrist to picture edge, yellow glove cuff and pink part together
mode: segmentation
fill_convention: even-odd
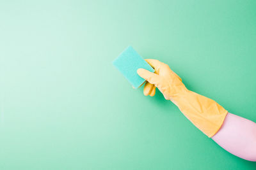
[[[207,97],[186,90],[172,98],[180,111],[218,145],[242,159],[256,161],[256,124]]]

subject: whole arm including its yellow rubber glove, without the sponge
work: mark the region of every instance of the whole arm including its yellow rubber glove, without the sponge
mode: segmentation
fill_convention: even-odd
[[[145,69],[137,71],[147,80],[145,96],[154,96],[157,87],[165,99],[178,106],[186,118],[225,150],[256,161],[255,123],[232,115],[212,99],[188,90],[180,77],[163,62],[154,59],[147,59],[147,62],[154,67],[155,73]]]

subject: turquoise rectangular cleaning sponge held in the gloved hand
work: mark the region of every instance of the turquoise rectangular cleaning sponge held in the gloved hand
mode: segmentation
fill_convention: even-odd
[[[144,79],[137,74],[143,68],[154,73],[154,69],[132,48],[128,46],[115,60],[113,65],[124,75],[134,88],[140,87]]]

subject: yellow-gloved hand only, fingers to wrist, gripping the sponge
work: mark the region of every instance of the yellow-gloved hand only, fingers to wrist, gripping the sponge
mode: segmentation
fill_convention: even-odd
[[[166,100],[172,99],[180,92],[187,90],[181,78],[167,64],[154,59],[146,59],[146,61],[155,69],[155,73],[146,69],[137,70],[137,73],[147,80],[143,90],[145,96],[154,96],[156,87]]]

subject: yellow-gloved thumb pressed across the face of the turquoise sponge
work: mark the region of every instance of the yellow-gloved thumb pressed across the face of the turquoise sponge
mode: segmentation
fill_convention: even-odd
[[[137,73],[141,78],[144,78],[149,83],[154,84],[156,87],[159,85],[160,76],[148,71],[147,69],[138,69]]]

